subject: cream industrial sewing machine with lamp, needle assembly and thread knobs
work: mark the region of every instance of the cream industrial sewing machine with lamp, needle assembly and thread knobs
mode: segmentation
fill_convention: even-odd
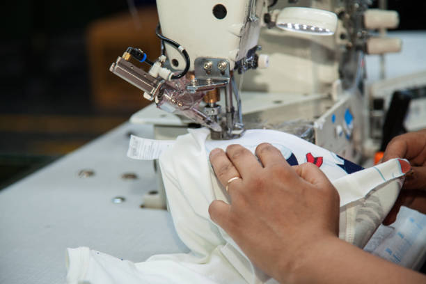
[[[151,123],[157,139],[194,125],[209,127],[212,139],[233,139],[247,128],[285,129],[359,161],[368,136],[364,54],[401,46],[370,36],[370,29],[397,26],[398,16],[369,4],[157,0],[162,55],[150,61],[129,47],[110,70],[155,102],[131,122]],[[164,200],[161,189],[159,195]]]

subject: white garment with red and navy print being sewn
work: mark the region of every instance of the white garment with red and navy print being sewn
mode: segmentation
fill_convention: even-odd
[[[248,130],[231,141],[210,141],[209,133],[196,129],[179,136],[159,159],[175,229],[191,252],[154,255],[133,263],[88,248],[68,248],[68,283],[276,283],[210,219],[208,207],[213,200],[229,203],[208,160],[214,148],[239,143],[254,152],[259,143],[268,142],[292,165],[317,165],[340,195],[339,237],[360,247],[392,207],[401,187],[397,178],[409,168],[407,161],[393,159],[363,169],[329,150],[274,130]]]

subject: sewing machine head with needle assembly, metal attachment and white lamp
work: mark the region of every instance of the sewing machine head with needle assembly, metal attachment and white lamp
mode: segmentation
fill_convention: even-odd
[[[140,49],[129,47],[110,70],[141,88],[159,109],[209,127],[213,139],[240,136],[244,125],[234,74],[267,67],[268,56],[258,54],[262,24],[317,35],[336,29],[334,13],[310,8],[272,11],[274,3],[157,0],[162,55],[151,62]],[[132,57],[150,64],[150,71],[130,63]]]

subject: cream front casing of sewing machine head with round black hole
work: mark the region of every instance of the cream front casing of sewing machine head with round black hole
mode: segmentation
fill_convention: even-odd
[[[216,6],[220,6],[219,8]],[[219,17],[214,10],[221,10]],[[157,0],[161,31],[187,49],[191,58],[190,71],[198,57],[226,58],[230,70],[235,62],[244,58],[249,49],[258,45],[264,0]],[[172,68],[182,70],[182,55],[166,45],[170,61],[178,61]]]

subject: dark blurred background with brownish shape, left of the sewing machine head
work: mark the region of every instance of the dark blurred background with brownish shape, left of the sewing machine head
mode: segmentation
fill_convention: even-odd
[[[2,7],[0,189],[144,107],[141,92],[108,68],[128,46],[152,59],[160,51],[153,0],[3,1]],[[390,0],[388,8],[400,13],[400,30],[426,29],[426,1]]]

